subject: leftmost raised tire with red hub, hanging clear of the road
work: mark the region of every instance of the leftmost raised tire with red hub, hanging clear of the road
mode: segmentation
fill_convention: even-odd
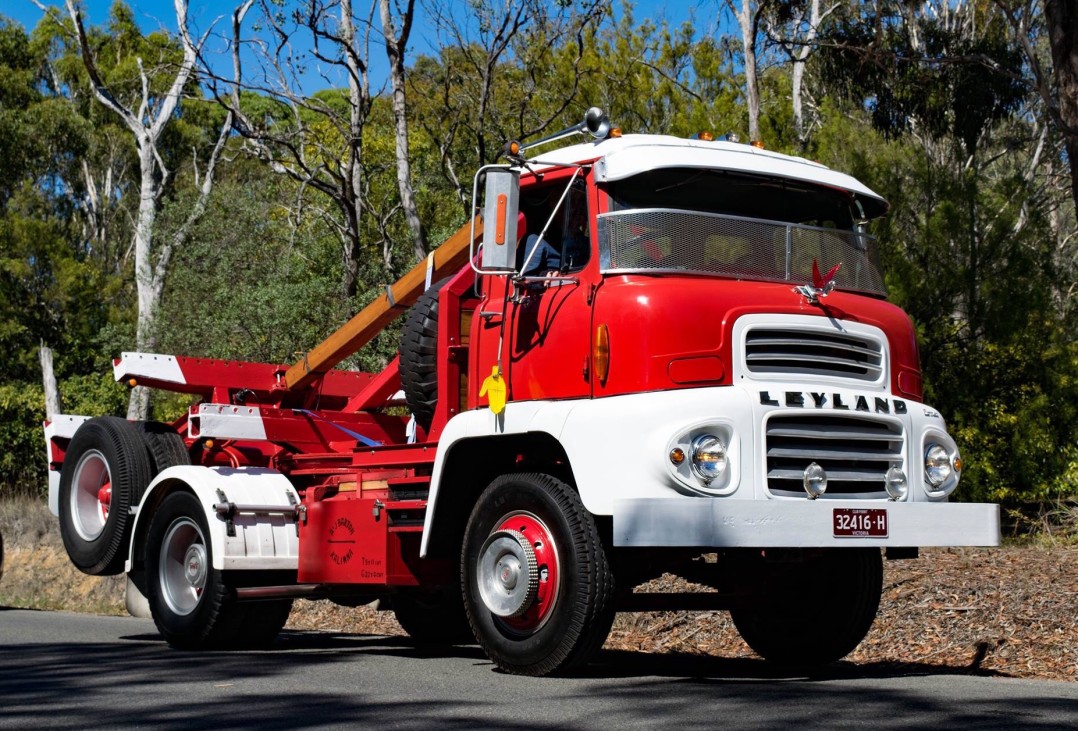
[[[79,570],[91,576],[123,571],[130,507],[138,505],[150,478],[150,457],[133,424],[98,416],[79,427],[59,486],[60,537]]]

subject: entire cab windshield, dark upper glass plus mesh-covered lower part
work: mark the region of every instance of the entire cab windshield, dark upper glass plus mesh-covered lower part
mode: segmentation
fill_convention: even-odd
[[[884,293],[875,239],[843,191],[722,170],[662,169],[610,184],[599,216],[605,272],[679,271],[812,281],[835,264],[840,289]]]

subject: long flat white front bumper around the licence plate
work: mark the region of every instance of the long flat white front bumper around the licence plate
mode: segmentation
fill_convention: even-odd
[[[886,511],[885,537],[834,535],[835,509]],[[613,501],[620,547],[999,546],[999,506],[865,500],[637,498]]]

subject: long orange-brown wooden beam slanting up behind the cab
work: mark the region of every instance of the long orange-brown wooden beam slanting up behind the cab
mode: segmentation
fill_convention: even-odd
[[[476,239],[483,234],[483,223],[475,220]],[[464,224],[444,244],[431,252],[434,258],[431,282],[454,274],[468,263],[471,222]],[[397,280],[336,332],[308,350],[285,373],[285,386],[291,390],[306,388],[342,360],[367,345],[382,330],[407,312],[423,294],[427,281],[427,260]]]

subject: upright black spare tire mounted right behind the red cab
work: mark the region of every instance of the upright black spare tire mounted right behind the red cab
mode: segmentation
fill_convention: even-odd
[[[438,293],[446,281],[431,285],[419,295],[401,331],[401,388],[416,424],[424,430],[430,428],[438,405]]]

